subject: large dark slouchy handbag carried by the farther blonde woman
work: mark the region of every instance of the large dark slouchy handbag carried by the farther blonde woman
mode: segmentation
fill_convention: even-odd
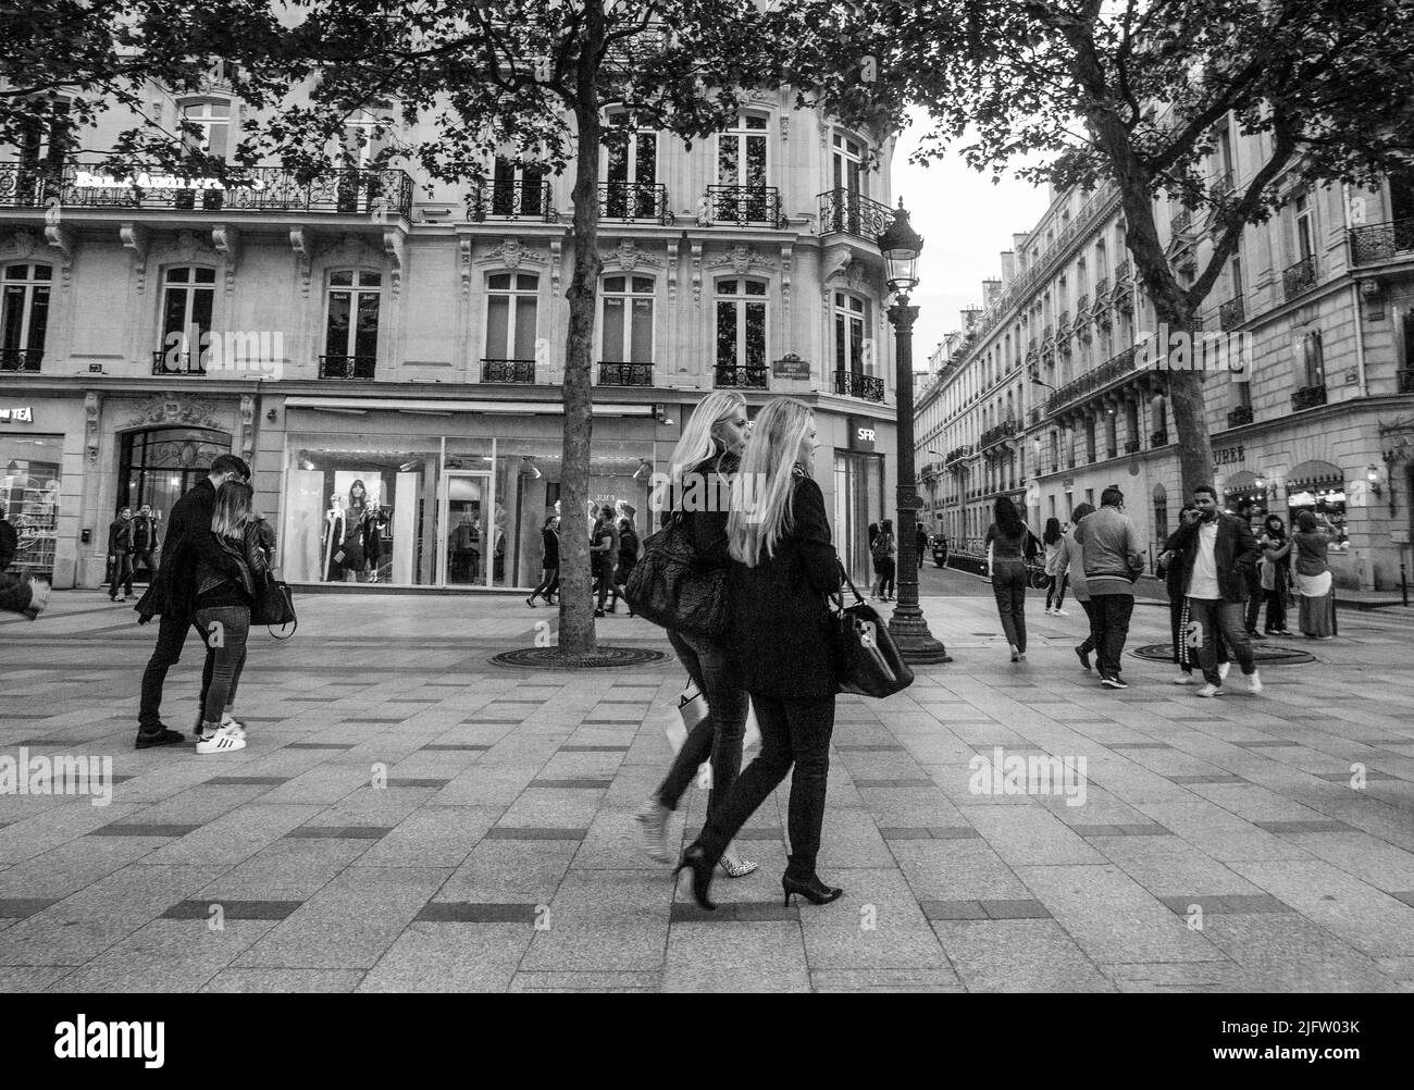
[[[727,635],[727,571],[703,571],[682,512],[643,541],[624,597],[642,618],[662,628],[721,640]]]

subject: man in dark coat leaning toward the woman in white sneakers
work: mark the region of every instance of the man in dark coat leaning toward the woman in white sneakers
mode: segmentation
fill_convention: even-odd
[[[161,721],[163,684],[167,681],[167,672],[181,662],[182,646],[192,628],[192,602],[184,599],[185,588],[178,587],[175,595],[170,594],[173,581],[167,578],[167,573],[175,557],[175,550],[188,537],[211,533],[216,489],[228,481],[245,481],[249,476],[250,467],[243,459],[233,454],[218,455],[206,476],[173,505],[165,547],[168,563],[158,568],[157,577],[148,584],[147,592],[136,606],[140,625],[147,623],[153,616],[161,616],[157,646],[147,662],[147,669],[143,670],[141,704],[137,713],[136,746],[139,749],[177,745],[182,741],[180,731],[171,729]],[[211,659],[208,656],[206,664],[202,667],[202,690],[211,683],[209,670]],[[233,694],[230,700],[235,700]],[[201,728],[199,720],[197,728]]]

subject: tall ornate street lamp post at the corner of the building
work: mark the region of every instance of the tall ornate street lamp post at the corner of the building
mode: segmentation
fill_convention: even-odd
[[[908,293],[918,287],[918,254],[923,240],[908,223],[902,198],[894,222],[878,236],[880,253],[888,264],[888,290],[896,294],[888,308],[894,327],[895,389],[898,390],[898,604],[888,631],[899,653],[911,663],[952,662],[947,649],[928,631],[923,611],[918,608],[918,512],[922,503],[913,482],[913,322],[918,307],[911,307]]]

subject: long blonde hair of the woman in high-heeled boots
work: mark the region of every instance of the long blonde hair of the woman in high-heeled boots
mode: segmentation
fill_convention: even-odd
[[[810,475],[800,464],[800,444],[814,423],[805,402],[778,397],[766,404],[751,427],[741,455],[741,472],[731,482],[731,515],[727,543],[731,557],[748,568],[761,553],[775,556],[781,539],[795,526],[795,475]]]

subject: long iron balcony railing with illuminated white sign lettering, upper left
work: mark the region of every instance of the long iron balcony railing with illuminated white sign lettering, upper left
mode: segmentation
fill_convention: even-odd
[[[222,213],[400,215],[413,211],[413,180],[400,170],[322,171],[298,181],[284,167],[243,167],[225,181],[132,170],[130,178],[71,164],[62,171],[0,163],[0,208],[177,209]]]

